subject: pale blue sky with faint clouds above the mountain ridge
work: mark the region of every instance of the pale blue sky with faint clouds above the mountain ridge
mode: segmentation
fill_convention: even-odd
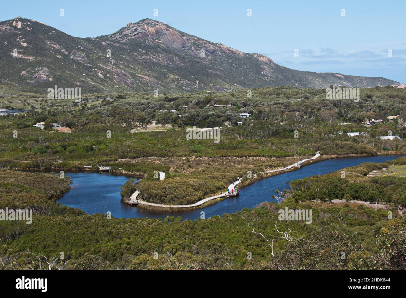
[[[405,11],[402,0],[19,0],[3,2],[0,20],[22,16],[86,37],[150,18],[240,51],[265,54],[289,68],[406,84]]]

